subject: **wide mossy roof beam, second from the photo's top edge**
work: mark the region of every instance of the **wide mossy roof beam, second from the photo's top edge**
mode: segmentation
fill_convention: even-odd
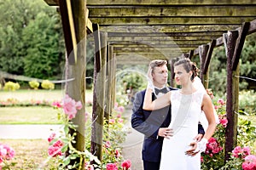
[[[90,18],[125,17],[248,17],[254,6],[90,6]]]

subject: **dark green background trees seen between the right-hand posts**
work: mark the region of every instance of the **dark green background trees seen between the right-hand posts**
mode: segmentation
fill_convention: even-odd
[[[255,81],[243,77],[256,77],[256,35],[251,34],[246,37],[240,56],[240,90],[256,89]],[[215,89],[219,94],[224,94],[226,89],[226,54],[224,46],[214,48],[210,64],[209,88]],[[221,86],[219,86],[221,84]]]

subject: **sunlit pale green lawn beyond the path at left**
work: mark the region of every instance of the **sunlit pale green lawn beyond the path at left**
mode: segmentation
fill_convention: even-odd
[[[91,90],[86,91],[86,100],[92,100]],[[64,92],[62,90],[17,90],[6,92],[0,90],[0,101],[17,99],[19,101],[49,100],[61,101]],[[86,107],[91,113],[91,107]],[[57,111],[49,106],[29,107],[0,107],[0,124],[59,124]]]

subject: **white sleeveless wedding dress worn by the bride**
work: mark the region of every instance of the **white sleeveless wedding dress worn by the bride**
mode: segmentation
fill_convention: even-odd
[[[160,170],[200,170],[201,154],[187,156],[186,150],[189,144],[198,134],[198,122],[200,121],[202,90],[193,94],[181,94],[180,90],[174,90],[171,94],[172,122],[169,127],[174,130],[170,139],[164,139],[161,153]]]

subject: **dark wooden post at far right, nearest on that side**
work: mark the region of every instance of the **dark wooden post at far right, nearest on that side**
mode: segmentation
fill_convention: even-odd
[[[235,88],[238,88],[238,83],[233,83],[233,72],[232,72],[232,58],[234,54],[234,50],[236,48],[236,38],[238,37],[237,31],[228,31],[228,33],[224,33],[224,45],[226,49],[227,55],[227,119],[228,125],[226,127],[225,132],[225,146],[224,146],[224,160],[227,161],[230,158],[229,153],[233,150],[236,145],[236,134],[237,134],[237,115],[233,110],[233,95]],[[237,89],[236,89],[237,90]],[[238,91],[238,90],[237,90]]]

